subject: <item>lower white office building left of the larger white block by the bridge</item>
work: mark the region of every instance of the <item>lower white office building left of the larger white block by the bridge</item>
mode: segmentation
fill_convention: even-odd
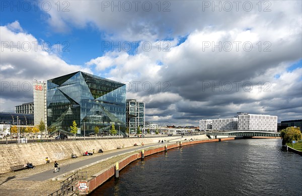
[[[212,130],[231,131],[237,129],[238,129],[238,118],[212,120]]]

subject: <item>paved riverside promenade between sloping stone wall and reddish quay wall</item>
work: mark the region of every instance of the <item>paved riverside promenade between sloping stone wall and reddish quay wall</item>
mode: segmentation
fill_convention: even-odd
[[[199,141],[212,142],[218,141],[218,139],[203,139]],[[186,141],[182,142],[183,145],[190,143]],[[175,145],[176,141],[165,142],[163,144],[146,144],[144,147],[132,146],[106,151],[104,153],[95,153],[93,156],[80,156],[76,159],[69,158],[61,160],[59,161],[61,170],[56,173],[53,173],[53,162],[51,162],[50,164],[38,165],[35,169],[0,174],[0,195],[49,195],[60,188],[60,180],[66,179],[75,171],[87,172],[88,178],[91,176],[97,177],[96,173],[102,174],[106,172],[108,168],[112,168],[117,161],[140,153],[142,149],[164,148],[166,144]],[[111,176],[107,177],[109,178]],[[105,179],[105,181],[107,179]],[[92,188],[96,187],[97,185]],[[90,188],[90,191],[92,190],[93,189]]]

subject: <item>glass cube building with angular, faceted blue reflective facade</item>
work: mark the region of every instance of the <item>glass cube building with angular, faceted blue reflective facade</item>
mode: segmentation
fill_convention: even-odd
[[[48,80],[47,126],[70,132],[74,120],[81,135],[108,133],[112,124],[124,133],[126,85],[82,71]]]

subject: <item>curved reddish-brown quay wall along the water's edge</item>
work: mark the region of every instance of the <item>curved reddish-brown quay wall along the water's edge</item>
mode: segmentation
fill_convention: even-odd
[[[234,140],[235,138],[220,138],[220,139],[209,139],[209,140],[195,140],[195,141],[188,141],[181,143],[175,143],[175,144],[167,144],[165,146],[157,147],[154,149],[144,149],[144,157],[152,154],[156,154],[158,152],[163,152],[165,150],[169,150],[172,148],[178,148],[181,146],[191,145],[191,144],[200,144],[200,143],[207,143],[207,142],[218,142],[218,141],[225,141],[225,140]],[[135,153],[132,155],[129,155],[120,161],[119,163],[119,170],[130,164],[131,162],[140,159],[142,153]],[[114,176],[115,174],[115,165],[112,165],[110,167],[105,168],[103,171],[100,171],[94,175],[92,175],[90,178],[87,179],[87,189],[84,191],[80,191],[80,194],[88,194],[95,190],[98,186],[103,184],[105,181],[107,181],[110,177]]]

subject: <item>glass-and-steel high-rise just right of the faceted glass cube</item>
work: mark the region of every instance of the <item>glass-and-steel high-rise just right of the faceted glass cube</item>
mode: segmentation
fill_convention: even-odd
[[[136,134],[139,128],[145,131],[145,103],[136,100],[127,100],[127,128],[129,133]]]

